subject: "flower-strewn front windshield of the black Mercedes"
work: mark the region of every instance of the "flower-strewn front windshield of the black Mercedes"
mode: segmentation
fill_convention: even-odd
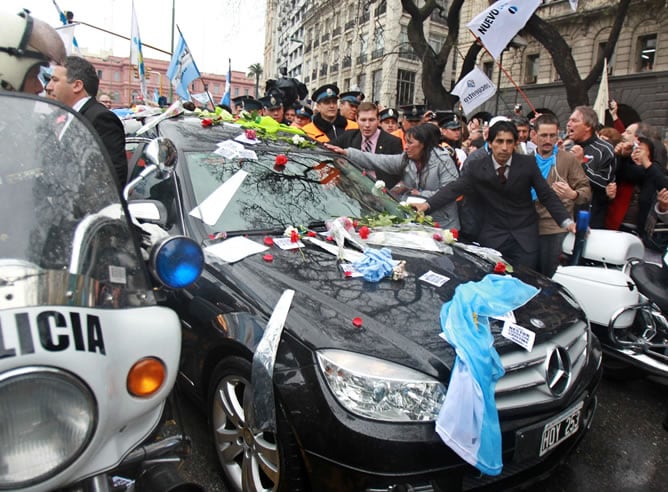
[[[236,134],[221,134],[221,140]],[[193,149],[197,145],[189,135],[180,163],[187,166],[194,195],[190,215],[212,231],[277,230],[339,216],[403,215],[382,187],[323,149],[261,143],[247,146],[257,156],[249,158],[216,153],[210,136],[200,137],[199,143],[203,148]]]

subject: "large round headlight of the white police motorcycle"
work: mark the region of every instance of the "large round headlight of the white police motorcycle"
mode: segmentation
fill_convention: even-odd
[[[47,367],[0,376],[0,490],[47,480],[86,448],[97,422],[91,391]]]

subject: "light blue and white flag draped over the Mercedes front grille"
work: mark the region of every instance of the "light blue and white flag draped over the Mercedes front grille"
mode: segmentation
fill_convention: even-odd
[[[538,289],[506,275],[486,275],[455,289],[441,308],[441,328],[457,354],[436,421],[436,432],[467,463],[486,475],[503,469],[494,389],[504,375],[488,317],[523,306]]]

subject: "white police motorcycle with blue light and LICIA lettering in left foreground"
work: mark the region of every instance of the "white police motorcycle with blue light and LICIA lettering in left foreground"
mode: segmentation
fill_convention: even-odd
[[[168,238],[143,257],[76,113],[0,92],[0,114],[0,490],[201,490],[175,473],[186,437],[154,432],[181,346],[159,296],[199,276],[201,249]],[[151,145],[145,173],[168,173],[169,142]]]

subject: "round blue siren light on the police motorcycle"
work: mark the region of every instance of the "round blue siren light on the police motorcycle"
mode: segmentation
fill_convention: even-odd
[[[151,267],[167,287],[182,289],[199,278],[204,268],[204,253],[190,238],[169,237],[153,250]]]

